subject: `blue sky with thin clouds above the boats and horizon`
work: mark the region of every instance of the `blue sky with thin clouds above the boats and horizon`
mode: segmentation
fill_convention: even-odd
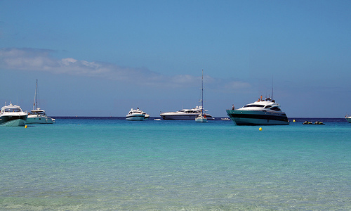
[[[0,105],[123,117],[260,96],[292,117],[351,115],[351,1],[0,0]],[[272,94],[273,91],[273,94]]]

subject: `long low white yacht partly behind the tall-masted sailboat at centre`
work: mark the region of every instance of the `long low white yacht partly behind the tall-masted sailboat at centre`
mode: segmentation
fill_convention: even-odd
[[[202,109],[201,106],[197,106],[196,108],[192,109],[182,109],[176,112],[161,113],[160,116],[164,120],[195,120],[195,118],[201,114],[201,110],[203,112],[207,111]],[[204,113],[204,115],[206,115],[207,120],[214,120],[214,118],[208,113]]]

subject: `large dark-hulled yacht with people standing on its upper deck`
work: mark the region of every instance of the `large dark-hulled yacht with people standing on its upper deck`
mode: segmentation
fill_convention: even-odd
[[[289,124],[288,117],[280,110],[280,105],[267,98],[259,99],[236,110],[227,110],[227,115],[237,125],[277,125]]]

